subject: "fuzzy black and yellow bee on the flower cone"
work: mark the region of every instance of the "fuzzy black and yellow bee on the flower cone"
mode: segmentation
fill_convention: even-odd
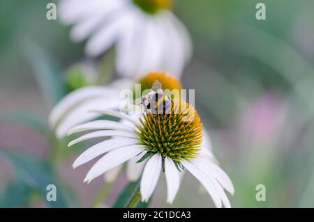
[[[152,85],[150,92],[146,96],[142,96],[135,100],[134,104],[143,105],[147,114],[165,114],[170,109],[172,99],[165,94],[161,87],[161,83],[156,80]]]

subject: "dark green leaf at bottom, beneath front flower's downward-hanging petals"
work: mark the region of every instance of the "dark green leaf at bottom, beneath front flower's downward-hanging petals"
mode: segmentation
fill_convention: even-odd
[[[140,186],[140,179],[137,182],[128,182],[128,184],[126,184],[126,186],[124,187],[124,190],[121,191],[121,193],[119,194],[119,197],[117,198],[116,202],[114,202],[114,205],[112,205],[112,207],[114,208],[126,207],[133,193],[137,190],[138,186]],[[150,202],[151,199],[149,200],[149,202],[140,201],[136,205],[136,208],[147,208],[149,207]]]

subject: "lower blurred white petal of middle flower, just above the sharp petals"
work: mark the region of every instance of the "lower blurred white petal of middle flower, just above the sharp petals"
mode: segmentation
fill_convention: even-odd
[[[59,125],[56,128],[56,133],[59,138],[67,135],[70,128],[77,124],[82,124],[84,121],[89,121],[99,117],[100,114],[95,112],[89,112],[90,110],[98,110],[102,108],[117,109],[120,102],[117,98],[93,98],[89,101],[85,101],[77,105],[73,110],[70,110],[66,116],[61,119]]]

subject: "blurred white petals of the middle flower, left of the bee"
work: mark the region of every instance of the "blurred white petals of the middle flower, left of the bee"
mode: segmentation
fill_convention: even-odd
[[[64,97],[50,112],[49,124],[58,138],[66,136],[68,130],[84,121],[96,119],[99,114],[89,110],[106,108],[118,110],[121,105],[119,91],[130,89],[134,82],[123,78],[111,84],[77,89]]]

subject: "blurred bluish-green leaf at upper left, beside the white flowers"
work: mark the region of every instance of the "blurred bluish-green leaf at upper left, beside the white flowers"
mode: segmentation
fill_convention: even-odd
[[[24,45],[24,57],[33,68],[33,74],[38,82],[48,105],[55,105],[66,95],[66,84],[61,77],[61,70],[51,55],[35,43]]]

